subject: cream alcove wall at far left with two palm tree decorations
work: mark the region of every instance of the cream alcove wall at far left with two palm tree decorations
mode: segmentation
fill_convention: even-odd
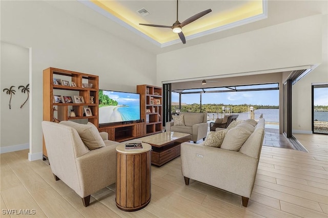
[[[1,42],[1,152],[29,148],[29,101],[22,108],[27,94],[18,90],[19,85],[29,83],[29,50],[27,48]],[[3,92],[14,85],[15,94],[12,95],[11,109],[9,109],[10,95]]]

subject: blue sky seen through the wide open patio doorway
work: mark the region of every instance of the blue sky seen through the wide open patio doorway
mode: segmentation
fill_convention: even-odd
[[[172,92],[172,101],[179,102],[179,94]],[[199,103],[199,94],[183,94],[181,102]],[[205,93],[201,95],[202,104],[252,104],[252,105],[279,105],[279,90]]]

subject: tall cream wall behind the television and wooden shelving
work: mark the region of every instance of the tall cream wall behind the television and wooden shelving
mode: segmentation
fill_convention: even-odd
[[[1,1],[1,39],[32,49],[30,160],[42,157],[44,69],[99,75],[101,89],[136,92],[136,84],[156,83],[155,55],[43,1]]]

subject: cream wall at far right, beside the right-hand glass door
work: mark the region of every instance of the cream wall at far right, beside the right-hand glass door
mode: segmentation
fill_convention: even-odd
[[[328,15],[322,16],[321,64],[292,86],[293,133],[312,133],[312,83],[328,82]]]

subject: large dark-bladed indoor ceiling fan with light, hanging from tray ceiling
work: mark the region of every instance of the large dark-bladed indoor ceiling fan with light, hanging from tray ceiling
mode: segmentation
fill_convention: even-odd
[[[163,27],[163,28],[171,28],[173,29],[174,33],[177,33],[182,41],[183,44],[186,44],[186,37],[182,33],[182,27],[186,26],[187,24],[192,23],[196,19],[199,19],[200,17],[210,13],[212,10],[207,9],[205,11],[202,11],[198,14],[195,14],[194,16],[189,17],[182,23],[178,21],[178,0],[176,1],[176,21],[172,26],[163,26],[163,25],[156,25],[156,24],[139,24],[139,25],[144,25],[144,26],[149,26],[149,27]]]

